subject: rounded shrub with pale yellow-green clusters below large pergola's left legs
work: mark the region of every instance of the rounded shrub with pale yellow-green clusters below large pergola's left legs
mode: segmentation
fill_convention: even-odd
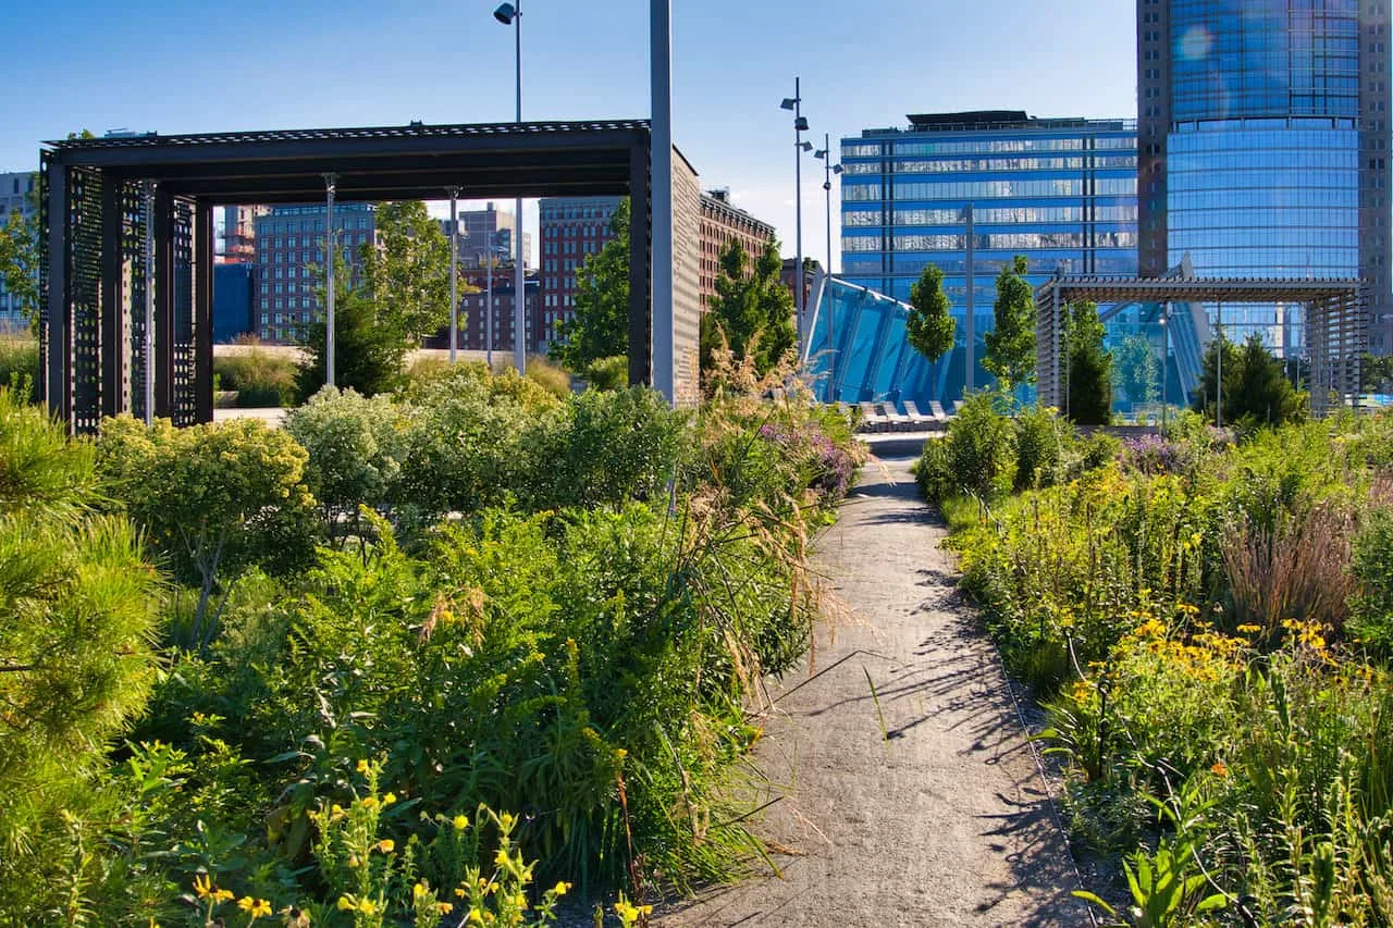
[[[290,435],[259,419],[185,429],[169,419],[146,428],[128,415],[102,424],[100,472],[176,577],[198,588],[187,644],[212,641],[237,571],[293,571],[309,556],[305,461]]]

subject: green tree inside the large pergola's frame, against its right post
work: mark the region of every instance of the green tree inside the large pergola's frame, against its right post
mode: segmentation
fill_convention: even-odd
[[[585,258],[575,274],[575,315],[563,322],[564,343],[552,353],[568,369],[589,376],[602,358],[628,354],[630,205],[620,201],[610,217],[613,238]]]

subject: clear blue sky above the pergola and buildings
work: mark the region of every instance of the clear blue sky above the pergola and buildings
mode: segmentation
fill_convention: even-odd
[[[513,35],[496,1],[14,0],[0,170],[35,167],[40,139],[79,128],[508,121]],[[522,8],[524,118],[649,114],[645,0]],[[731,188],[790,255],[793,127],[779,100],[794,75],[812,141],[830,132],[834,150],[905,113],[1131,117],[1134,29],[1126,0],[673,0],[674,137],[703,187]],[[804,162],[804,249],[816,258],[819,166]]]

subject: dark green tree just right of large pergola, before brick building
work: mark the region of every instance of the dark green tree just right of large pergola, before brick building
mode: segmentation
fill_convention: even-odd
[[[763,376],[794,350],[793,294],[783,286],[783,259],[769,242],[754,266],[738,241],[720,254],[716,298],[701,318],[701,368],[712,369],[712,351],[722,341],[736,359],[749,357]]]

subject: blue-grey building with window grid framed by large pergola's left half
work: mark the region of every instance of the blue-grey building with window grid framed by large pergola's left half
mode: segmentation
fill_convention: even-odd
[[[336,245],[357,274],[359,252],[376,244],[376,205],[336,203]],[[256,334],[263,341],[299,341],[316,314],[325,268],[325,205],[273,206],[256,216]]]

